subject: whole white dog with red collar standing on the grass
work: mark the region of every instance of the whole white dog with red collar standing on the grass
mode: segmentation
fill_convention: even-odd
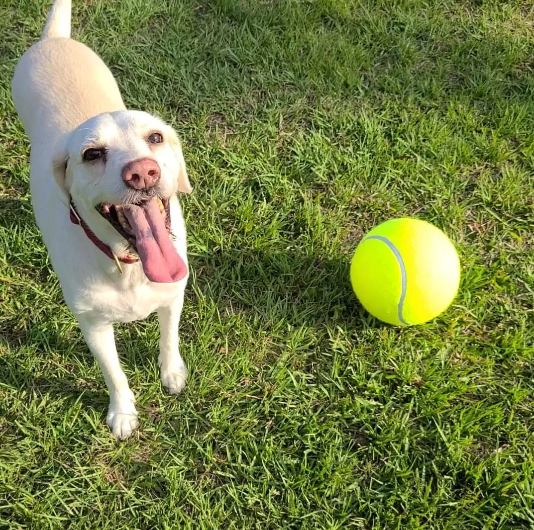
[[[41,40],[13,76],[30,139],[32,202],[70,310],[104,373],[107,423],[137,428],[113,322],[158,312],[161,381],[183,389],[178,323],[188,266],[177,192],[191,187],[180,142],[157,118],[126,110],[104,62],[70,38],[70,0],[56,0]]]

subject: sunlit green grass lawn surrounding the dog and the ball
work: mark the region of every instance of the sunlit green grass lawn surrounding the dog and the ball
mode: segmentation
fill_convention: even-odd
[[[34,224],[10,78],[49,2],[0,7],[0,527],[534,528],[530,2],[74,0],[131,108],[183,138],[189,385],[155,318],[117,327],[141,427],[108,395]],[[351,294],[359,238],[441,227],[442,317]]]

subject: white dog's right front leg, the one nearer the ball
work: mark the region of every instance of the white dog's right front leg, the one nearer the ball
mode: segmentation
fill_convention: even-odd
[[[177,394],[187,381],[187,368],[178,347],[178,325],[184,305],[184,291],[166,306],[158,309],[160,322],[160,365],[161,383],[171,394]]]

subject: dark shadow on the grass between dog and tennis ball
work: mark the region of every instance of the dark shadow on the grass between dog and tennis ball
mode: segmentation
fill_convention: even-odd
[[[365,318],[349,279],[350,258],[325,259],[305,249],[226,249],[191,259],[193,293],[217,307],[231,307],[293,327],[380,326]]]

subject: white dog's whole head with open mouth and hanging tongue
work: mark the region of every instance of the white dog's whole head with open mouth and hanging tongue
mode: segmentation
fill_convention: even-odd
[[[140,255],[148,278],[174,281],[159,271],[171,258],[169,200],[191,186],[170,126],[136,110],[100,114],[64,138],[52,165],[66,200],[100,239],[122,238]]]

